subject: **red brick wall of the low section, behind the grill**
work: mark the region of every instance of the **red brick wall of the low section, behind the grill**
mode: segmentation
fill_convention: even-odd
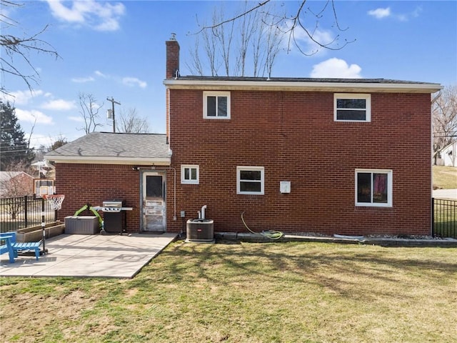
[[[133,207],[126,212],[126,229],[140,229],[140,174],[133,166],[116,164],[57,164],[56,194],[65,194],[59,219],[72,216],[85,204],[101,206],[109,199],[124,199],[124,206]],[[99,212],[103,217],[103,212]],[[81,215],[92,215],[86,211]]]

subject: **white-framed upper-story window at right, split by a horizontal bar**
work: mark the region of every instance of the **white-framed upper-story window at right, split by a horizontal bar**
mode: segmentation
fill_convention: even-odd
[[[371,121],[371,94],[333,94],[335,121]]]

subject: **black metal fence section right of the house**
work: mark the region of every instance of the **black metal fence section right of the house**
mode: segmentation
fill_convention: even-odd
[[[433,237],[457,238],[457,201],[431,198]]]

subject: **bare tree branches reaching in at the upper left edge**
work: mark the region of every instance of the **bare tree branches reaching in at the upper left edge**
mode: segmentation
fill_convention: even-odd
[[[6,6],[20,8],[24,5],[17,4],[13,1],[0,0],[0,6],[2,8]],[[3,76],[8,74],[21,78],[31,91],[33,89],[32,83],[38,84],[39,72],[31,63],[29,53],[35,52],[50,54],[56,59],[59,57],[59,54],[57,54],[51,44],[39,38],[48,28],[47,25],[36,34],[25,34],[24,36],[8,34],[8,30],[20,28],[21,25],[14,19],[6,16],[4,13],[6,13],[6,11],[2,11],[0,14],[0,23],[2,26],[0,34],[0,72]],[[31,69],[30,72],[28,73],[24,70],[19,70],[19,63],[17,63],[16,59],[25,62],[26,66],[29,66]],[[9,94],[9,91],[4,87],[3,83],[0,85],[0,93]]]

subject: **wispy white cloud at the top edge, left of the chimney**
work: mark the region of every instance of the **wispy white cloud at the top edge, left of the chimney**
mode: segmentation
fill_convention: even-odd
[[[67,7],[68,1],[46,1],[52,15],[57,19],[70,24],[89,26],[97,31],[118,30],[119,19],[125,14],[125,6],[121,2],[74,0]]]

